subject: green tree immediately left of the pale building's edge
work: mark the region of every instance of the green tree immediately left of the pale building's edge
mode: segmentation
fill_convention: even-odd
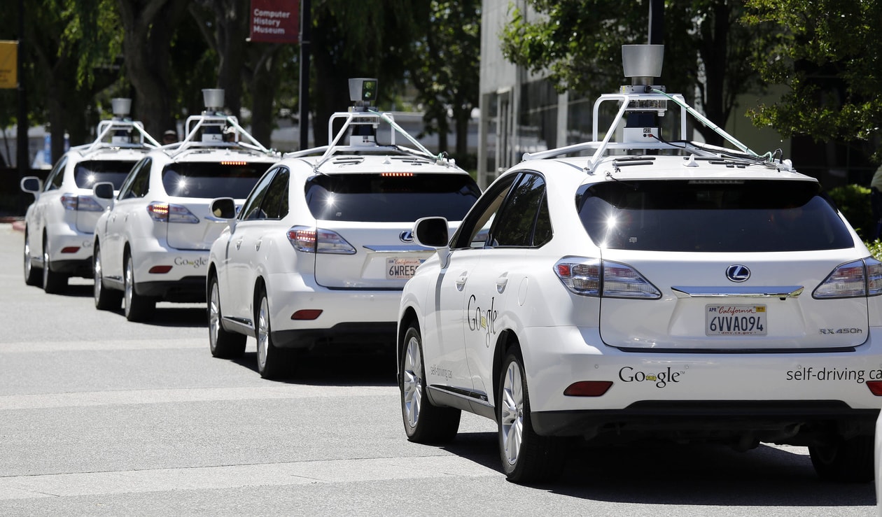
[[[447,151],[451,118],[456,129],[456,158],[467,157],[468,122],[480,97],[481,1],[432,0],[427,30],[410,55],[410,78],[422,103],[424,131],[438,134]],[[473,71],[474,70],[474,71]]]

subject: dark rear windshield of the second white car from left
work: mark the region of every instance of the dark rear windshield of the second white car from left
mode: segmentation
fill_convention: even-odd
[[[175,163],[162,171],[162,186],[168,196],[248,197],[269,164],[235,161]]]

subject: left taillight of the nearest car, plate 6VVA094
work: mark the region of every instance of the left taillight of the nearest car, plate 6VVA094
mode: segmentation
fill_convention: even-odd
[[[662,298],[662,292],[627,264],[564,257],[554,265],[560,281],[575,294],[607,298]]]

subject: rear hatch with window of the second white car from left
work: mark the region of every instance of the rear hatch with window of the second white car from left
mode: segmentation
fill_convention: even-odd
[[[266,169],[266,161],[181,162],[162,171],[168,199],[168,246],[177,249],[209,249],[226,220],[213,218],[209,205],[214,198],[232,197],[243,203]]]

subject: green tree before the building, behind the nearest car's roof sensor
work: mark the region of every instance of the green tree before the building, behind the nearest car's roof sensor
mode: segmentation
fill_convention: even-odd
[[[647,2],[533,0],[540,16],[512,10],[503,29],[507,59],[528,70],[547,71],[558,91],[596,97],[623,85],[621,46],[647,42]],[[732,0],[665,2],[662,79],[669,92],[683,93],[707,118],[724,124],[737,95],[759,87],[750,57],[762,26],[740,22],[744,4]],[[721,144],[710,129],[696,128]]]

